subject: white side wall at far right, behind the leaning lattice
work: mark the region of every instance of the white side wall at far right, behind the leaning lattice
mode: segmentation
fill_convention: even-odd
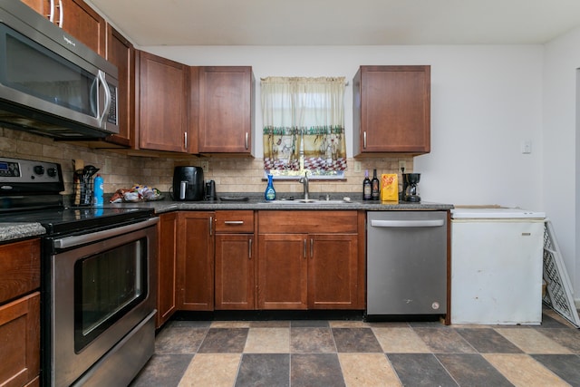
[[[577,173],[577,68],[580,67],[580,28],[546,44],[544,60],[543,175],[544,207],[554,223],[568,275],[580,300],[580,198]]]

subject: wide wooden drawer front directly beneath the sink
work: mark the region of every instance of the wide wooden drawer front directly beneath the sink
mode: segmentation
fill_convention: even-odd
[[[357,233],[356,211],[279,210],[258,212],[258,232],[274,233]]]

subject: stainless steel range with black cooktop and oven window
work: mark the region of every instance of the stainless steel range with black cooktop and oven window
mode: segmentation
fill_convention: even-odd
[[[43,384],[127,385],[154,351],[159,218],[65,207],[63,190],[60,164],[0,158],[0,222],[46,229]]]

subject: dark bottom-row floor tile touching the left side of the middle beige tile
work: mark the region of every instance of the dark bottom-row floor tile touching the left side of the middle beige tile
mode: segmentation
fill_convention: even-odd
[[[293,353],[290,370],[293,387],[345,386],[336,353]]]

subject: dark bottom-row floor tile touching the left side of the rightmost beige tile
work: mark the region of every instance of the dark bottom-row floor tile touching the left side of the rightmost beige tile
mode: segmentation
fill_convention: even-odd
[[[438,353],[435,355],[453,379],[462,386],[509,387],[512,383],[479,353]]]

